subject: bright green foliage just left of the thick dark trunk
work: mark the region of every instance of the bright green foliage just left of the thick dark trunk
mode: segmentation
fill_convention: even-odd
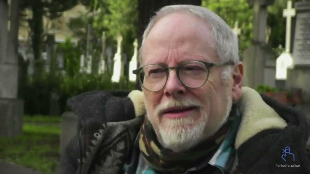
[[[74,37],[79,38],[79,47],[83,51],[86,50],[87,25],[91,24],[93,61],[101,53],[101,36],[102,32],[105,32],[106,45],[114,48],[116,48],[117,35],[122,35],[122,52],[127,54],[127,62],[129,62],[134,51],[132,44],[137,37],[137,0],[92,0],[90,2],[87,6],[88,14],[93,15],[81,14],[69,22],[69,28],[73,31]],[[97,69],[97,67],[93,68]]]

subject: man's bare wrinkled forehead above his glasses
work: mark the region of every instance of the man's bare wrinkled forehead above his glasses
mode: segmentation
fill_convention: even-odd
[[[198,54],[214,52],[216,42],[210,26],[202,19],[188,13],[172,13],[162,17],[153,26],[141,48],[142,63],[150,55],[165,50],[182,48],[182,51]],[[160,56],[160,55],[157,55]]]

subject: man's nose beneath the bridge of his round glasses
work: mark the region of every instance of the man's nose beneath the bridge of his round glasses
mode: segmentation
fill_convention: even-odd
[[[179,80],[176,71],[170,71],[166,86],[164,87],[164,94],[167,97],[178,97],[186,93],[186,88]]]

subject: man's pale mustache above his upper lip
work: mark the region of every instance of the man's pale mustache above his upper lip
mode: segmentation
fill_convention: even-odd
[[[158,117],[159,115],[162,115],[164,111],[171,107],[197,107],[201,108],[202,104],[201,102],[193,99],[171,99],[167,102],[164,102],[160,105],[158,105],[154,111],[154,115]]]

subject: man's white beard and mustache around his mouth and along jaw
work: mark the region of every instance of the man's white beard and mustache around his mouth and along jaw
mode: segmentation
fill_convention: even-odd
[[[157,121],[159,118],[159,112],[168,106],[200,106],[199,109],[201,112],[201,118],[196,122],[196,124],[192,117],[166,120],[168,121],[167,124],[169,124],[169,127],[163,127],[162,125],[159,125],[157,129],[154,128],[158,141],[165,148],[171,149],[174,152],[181,152],[190,149],[203,140],[206,140],[208,137],[214,135],[214,133],[216,133],[219,128],[227,121],[232,107],[232,99],[230,96],[227,96],[227,100],[226,112],[224,113],[225,115],[222,117],[217,117],[220,120],[216,120],[211,130],[210,128],[206,130],[206,124],[208,123],[209,115],[207,115],[206,111],[202,109],[200,103],[192,100],[178,100],[163,104],[163,106],[158,107],[154,111],[154,116],[157,118]],[[188,127],[188,124],[191,124],[191,127]]]

